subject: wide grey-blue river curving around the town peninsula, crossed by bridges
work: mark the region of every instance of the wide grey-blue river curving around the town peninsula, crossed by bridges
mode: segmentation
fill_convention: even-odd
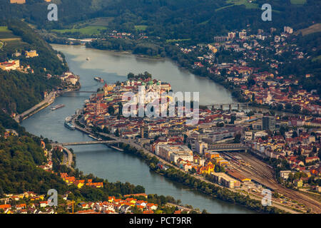
[[[93,91],[102,87],[93,80],[100,76],[107,83],[125,81],[129,72],[143,73],[148,71],[153,78],[171,84],[174,91],[199,91],[200,104],[230,103],[230,93],[207,78],[194,76],[181,70],[170,60],[139,58],[131,54],[113,53],[88,49],[84,46],[53,45],[66,56],[70,70],[81,77],[81,90]],[[86,61],[86,58],[91,58]],[[83,101],[89,93],[68,93],[58,97],[53,105],[64,104],[66,107],[51,111],[50,107],[24,120],[22,125],[34,135],[43,135],[58,142],[80,142],[91,140],[77,130],[68,130],[63,126],[68,115],[73,115],[76,108],[82,108]],[[109,182],[131,182],[142,185],[147,194],[170,195],[180,199],[183,204],[206,209],[210,213],[253,213],[234,204],[219,199],[211,199],[195,190],[165,179],[151,172],[148,166],[138,157],[118,152],[105,145],[81,145],[72,147],[76,153],[76,167],[85,174],[92,173]]]

